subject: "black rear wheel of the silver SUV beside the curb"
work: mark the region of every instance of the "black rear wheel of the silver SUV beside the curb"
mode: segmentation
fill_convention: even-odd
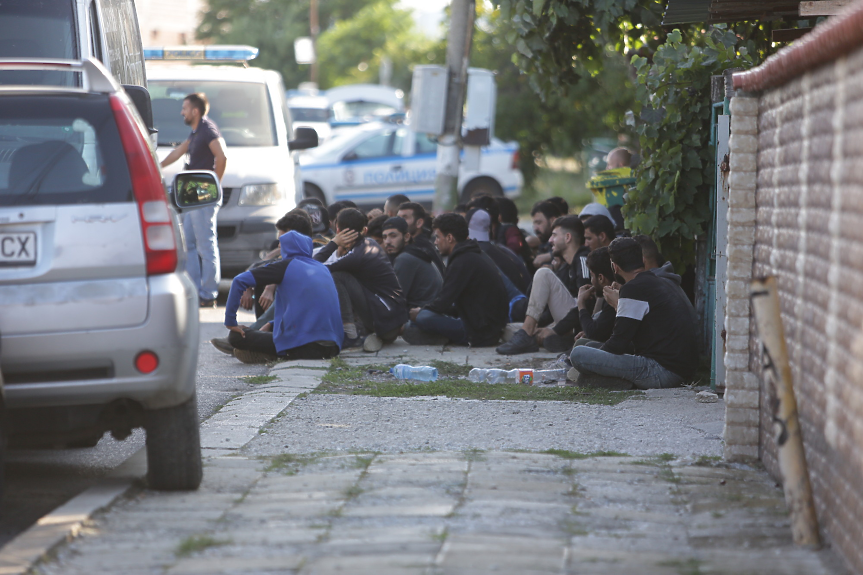
[[[162,491],[191,491],[201,484],[201,434],[197,396],[176,407],[145,412],[147,482]]]

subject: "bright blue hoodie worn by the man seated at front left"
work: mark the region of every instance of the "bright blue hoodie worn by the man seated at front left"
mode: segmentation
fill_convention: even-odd
[[[330,271],[312,259],[312,239],[291,231],[279,238],[279,245],[281,260],[234,278],[225,305],[225,325],[237,325],[237,308],[247,288],[277,284],[273,304],[276,351],[283,354],[315,341],[332,341],[341,348],[345,332],[339,294]]]

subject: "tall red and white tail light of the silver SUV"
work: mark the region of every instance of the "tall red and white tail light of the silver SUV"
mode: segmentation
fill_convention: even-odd
[[[117,94],[111,95],[111,109],[120,131],[132,177],[132,191],[141,215],[147,275],[171,273],[177,269],[174,225],[162,187],[162,175],[148,143],[149,137],[135,120],[129,104]]]

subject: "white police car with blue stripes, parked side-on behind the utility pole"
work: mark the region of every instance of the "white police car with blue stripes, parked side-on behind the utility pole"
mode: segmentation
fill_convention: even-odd
[[[327,204],[351,200],[380,205],[393,194],[411,201],[434,198],[437,143],[405,125],[371,122],[333,136],[300,155],[303,192]],[[518,144],[492,139],[482,148],[477,169],[462,164],[458,192],[462,200],[478,192],[517,197],[523,179]]]

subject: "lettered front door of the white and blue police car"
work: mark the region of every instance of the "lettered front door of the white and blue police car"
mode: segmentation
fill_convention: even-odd
[[[375,132],[342,156],[336,200],[382,204],[407,191],[400,146],[394,149],[396,130],[393,126]]]

